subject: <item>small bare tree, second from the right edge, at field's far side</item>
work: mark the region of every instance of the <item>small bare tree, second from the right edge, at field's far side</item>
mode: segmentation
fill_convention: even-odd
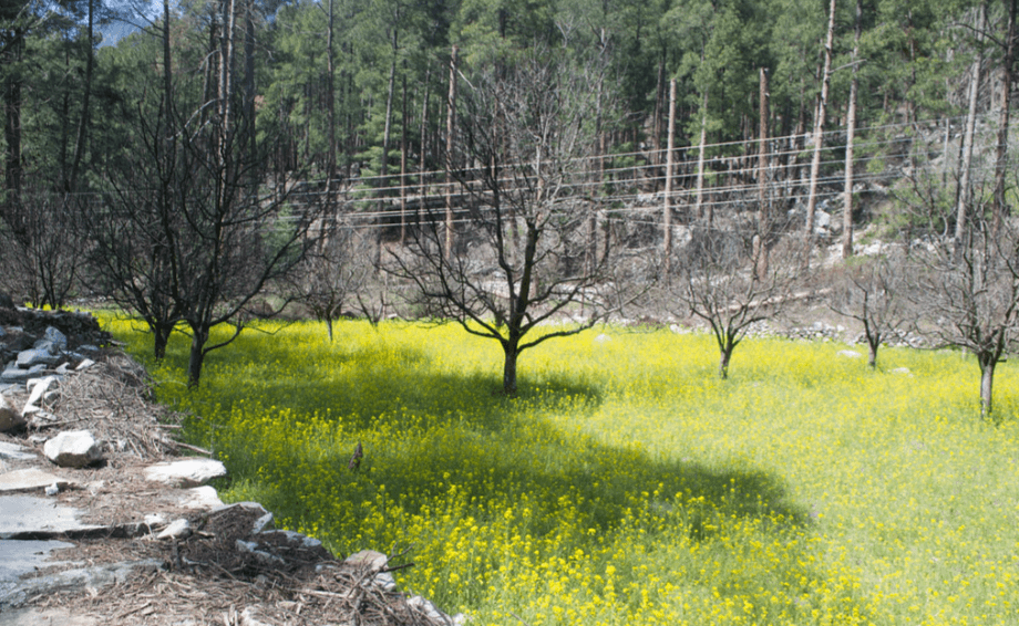
[[[915,313],[904,257],[891,253],[850,261],[834,274],[828,306],[863,325],[872,369],[877,366],[881,344],[908,327]]]

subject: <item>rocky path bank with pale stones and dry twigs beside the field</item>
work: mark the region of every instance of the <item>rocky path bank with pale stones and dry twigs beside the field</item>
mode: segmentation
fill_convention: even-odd
[[[224,504],[206,483],[226,468],[175,455],[109,342],[88,314],[0,307],[0,626],[467,619],[399,592],[398,555],[337,559],[258,503]]]

